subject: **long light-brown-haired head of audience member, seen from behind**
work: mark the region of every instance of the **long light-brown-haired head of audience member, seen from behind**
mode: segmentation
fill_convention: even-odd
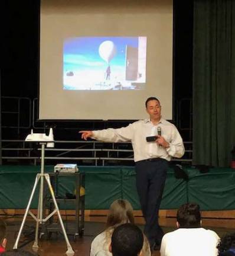
[[[106,227],[109,228],[128,222],[134,223],[133,208],[131,204],[127,200],[115,200],[110,206]]]

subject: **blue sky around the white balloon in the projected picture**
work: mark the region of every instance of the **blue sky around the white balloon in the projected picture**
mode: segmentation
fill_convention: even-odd
[[[99,46],[106,40],[113,41],[117,49],[116,56],[110,61],[112,68],[125,68],[126,45],[138,47],[138,37],[74,37],[64,41],[64,72],[107,66],[99,55]]]

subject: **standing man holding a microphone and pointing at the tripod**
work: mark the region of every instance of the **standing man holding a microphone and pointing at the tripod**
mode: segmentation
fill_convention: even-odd
[[[184,155],[184,144],[174,124],[162,119],[161,104],[157,98],[148,98],[145,107],[149,119],[135,121],[120,129],[86,130],[80,133],[85,140],[92,137],[103,142],[132,142],[136,187],[146,222],[144,232],[151,248],[155,244],[155,249],[158,249],[164,235],[158,224],[158,211],[168,162],[172,156],[181,158]],[[156,136],[156,139],[147,142],[146,137],[149,136]]]

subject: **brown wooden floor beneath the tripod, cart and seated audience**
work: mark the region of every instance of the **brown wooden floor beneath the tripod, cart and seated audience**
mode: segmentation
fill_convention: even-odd
[[[17,233],[19,231],[19,225],[21,224],[21,218],[4,218],[7,223],[7,238],[8,244],[7,249],[12,249]],[[89,255],[90,244],[99,232],[102,232],[105,227],[106,217],[89,217],[89,221],[85,222],[85,231],[82,238],[77,237],[74,240],[73,236],[69,236],[71,246],[75,251],[75,255],[85,256]],[[143,219],[142,217],[135,217],[136,223],[143,228]],[[176,229],[175,217],[161,217],[159,219],[164,232],[170,232]],[[24,228],[24,235],[21,236],[18,247],[25,249],[27,251],[32,250],[32,244],[34,242],[34,226],[35,223],[28,218]],[[224,235],[227,232],[235,232],[235,219],[203,219],[203,227],[213,229],[218,233],[219,236]],[[31,235],[30,235],[31,233]],[[60,256],[65,255],[67,248],[66,242],[64,241],[63,236],[59,233],[53,233],[50,239],[43,236],[39,241],[38,254],[41,256]],[[159,255],[159,252],[156,251],[152,255]]]

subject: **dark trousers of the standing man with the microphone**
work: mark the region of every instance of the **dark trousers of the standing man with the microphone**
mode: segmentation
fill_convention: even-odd
[[[154,243],[160,245],[164,235],[158,224],[158,212],[161,204],[168,161],[162,158],[146,159],[136,162],[136,187],[145,217],[144,233],[152,248]]]

